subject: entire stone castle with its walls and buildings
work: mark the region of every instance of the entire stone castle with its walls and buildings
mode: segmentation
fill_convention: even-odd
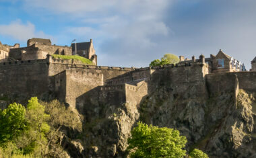
[[[0,44],[0,97],[32,97],[42,100],[57,97],[82,112],[93,104],[139,106],[162,83],[168,83],[176,93],[193,87],[197,95],[212,95],[218,91],[233,91],[238,86],[255,90],[256,59],[251,71],[222,50],[216,56],[185,59],[176,65],[125,68],[97,65],[92,40],[77,43],[77,55],[90,59],[94,65],[53,58],[53,54],[73,55],[75,44],[55,46],[49,39],[32,38],[28,46]]]

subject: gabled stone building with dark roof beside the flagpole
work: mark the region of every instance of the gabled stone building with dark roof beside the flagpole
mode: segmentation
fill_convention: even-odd
[[[75,54],[75,43],[72,43],[71,47],[72,54]],[[94,44],[92,44],[92,39],[90,39],[90,42],[76,43],[76,54],[90,59],[97,65],[97,56],[95,54]]]

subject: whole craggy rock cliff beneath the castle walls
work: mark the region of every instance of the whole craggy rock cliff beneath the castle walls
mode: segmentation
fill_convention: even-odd
[[[82,149],[72,149],[71,153],[125,157],[130,130],[141,120],[180,130],[188,139],[188,151],[201,149],[210,157],[255,157],[256,94],[240,89],[238,94],[222,91],[207,96],[197,91],[192,85],[181,94],[177,86],[166,83],[143,97],[140,104],[110,102],[109,94],[98,100],[88,99],[86,106],[79,108],[85,117],[79,138]]]

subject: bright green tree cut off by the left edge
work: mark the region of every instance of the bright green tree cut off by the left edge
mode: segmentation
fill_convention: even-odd
[[[26,129],[26,109],[21,104],[10,104],[8,108],[0,110],[0,145],[13,141]]]

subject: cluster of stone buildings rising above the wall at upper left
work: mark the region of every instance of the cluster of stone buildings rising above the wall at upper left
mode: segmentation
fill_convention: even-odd
[[[26,47],[19,46],[7,47],[0,45],[0,60],[2,61],[28,61],[36,59],[44,59],[47,54],[73,55],[75,52],[75,44],[71,46],[52,45],[50,39],[31,38],[27,42]],[[97,56],[95,54],[92,40],[90,42],[77,43],[77,55],[84,56],[92,60],[97,65]]]

